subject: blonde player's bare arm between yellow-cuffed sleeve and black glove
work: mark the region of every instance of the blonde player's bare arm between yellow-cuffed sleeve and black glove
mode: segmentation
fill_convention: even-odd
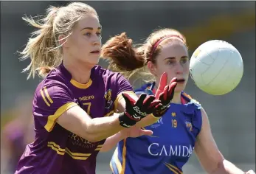
[[[114,135],[123,129],[120,126],[119,114],[101,118],[91,117],[79,106],[74,106],[58,117],[60,126],[90,142],[98,142]]]

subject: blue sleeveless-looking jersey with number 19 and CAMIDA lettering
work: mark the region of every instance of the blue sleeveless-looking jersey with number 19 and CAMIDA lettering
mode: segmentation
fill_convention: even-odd
[[[154,83],[136,90],[153,94]],[[182,104],[171,103],[164,116],[145,127],[152,136],[123,139],[118,143],[110,166],[114,174],[182,173],[201,130],[201,105],[181,92]]]

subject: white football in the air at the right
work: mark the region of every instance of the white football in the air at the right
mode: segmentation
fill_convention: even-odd
[[[243,59],[226,41],[207,41],[190,58],[190,77],[202,91],[223,95],[232,91],[243,77]]]

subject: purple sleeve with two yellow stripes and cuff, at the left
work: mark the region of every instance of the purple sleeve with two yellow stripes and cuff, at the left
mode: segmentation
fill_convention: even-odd
[[[35,93],[33,102],[35,122],[50,132],[56,119],[76,105],[72,94],[65,87],[61,85],[43,86]]]

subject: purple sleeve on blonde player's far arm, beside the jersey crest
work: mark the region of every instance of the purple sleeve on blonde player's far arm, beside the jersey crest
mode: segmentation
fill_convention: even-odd
[[[114,101],[114,108],[117,108],[118,102],[122,100],[122,93],[128,93],[131,95],[135,95],[133,87],[131,84],[128,82],[128,80],[125,79],[121,74],[117,75],[117,98]]]

